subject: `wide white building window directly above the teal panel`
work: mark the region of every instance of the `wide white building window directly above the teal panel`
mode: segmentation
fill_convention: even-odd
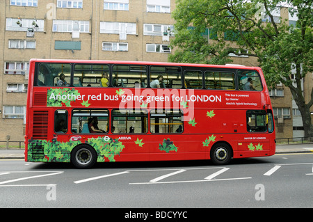
[[[52,31],[89,33],[89,21],[54,20]]]

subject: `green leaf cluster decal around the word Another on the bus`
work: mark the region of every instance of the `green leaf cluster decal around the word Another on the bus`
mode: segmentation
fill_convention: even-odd
[[[47,106],[63,106],[63,104],[71,106],[71,102],[74,102],[77,96],[80,96],[80,93],[74,88],[50,88],[47,93]]]

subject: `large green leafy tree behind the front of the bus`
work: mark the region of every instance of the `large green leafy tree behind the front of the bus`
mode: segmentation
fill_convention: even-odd
[[[230,53],[255,56],[269,88],[282,82],[291,90],[305,136],[313,136],[313,88],[305,100],[301,86],[301,79],[313,71],[312,1],[177,0],[170,43],[175,53],[169,61],[223,65],[232,62]],[[295,25],[274,16],[280,8],[298,17]]]

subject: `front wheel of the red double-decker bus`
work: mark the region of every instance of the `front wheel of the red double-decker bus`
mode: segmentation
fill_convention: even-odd
[[[216,143],[211,148],[210,157],[215,165],[229,164],[232,159],[232,148],[227,143]]]

